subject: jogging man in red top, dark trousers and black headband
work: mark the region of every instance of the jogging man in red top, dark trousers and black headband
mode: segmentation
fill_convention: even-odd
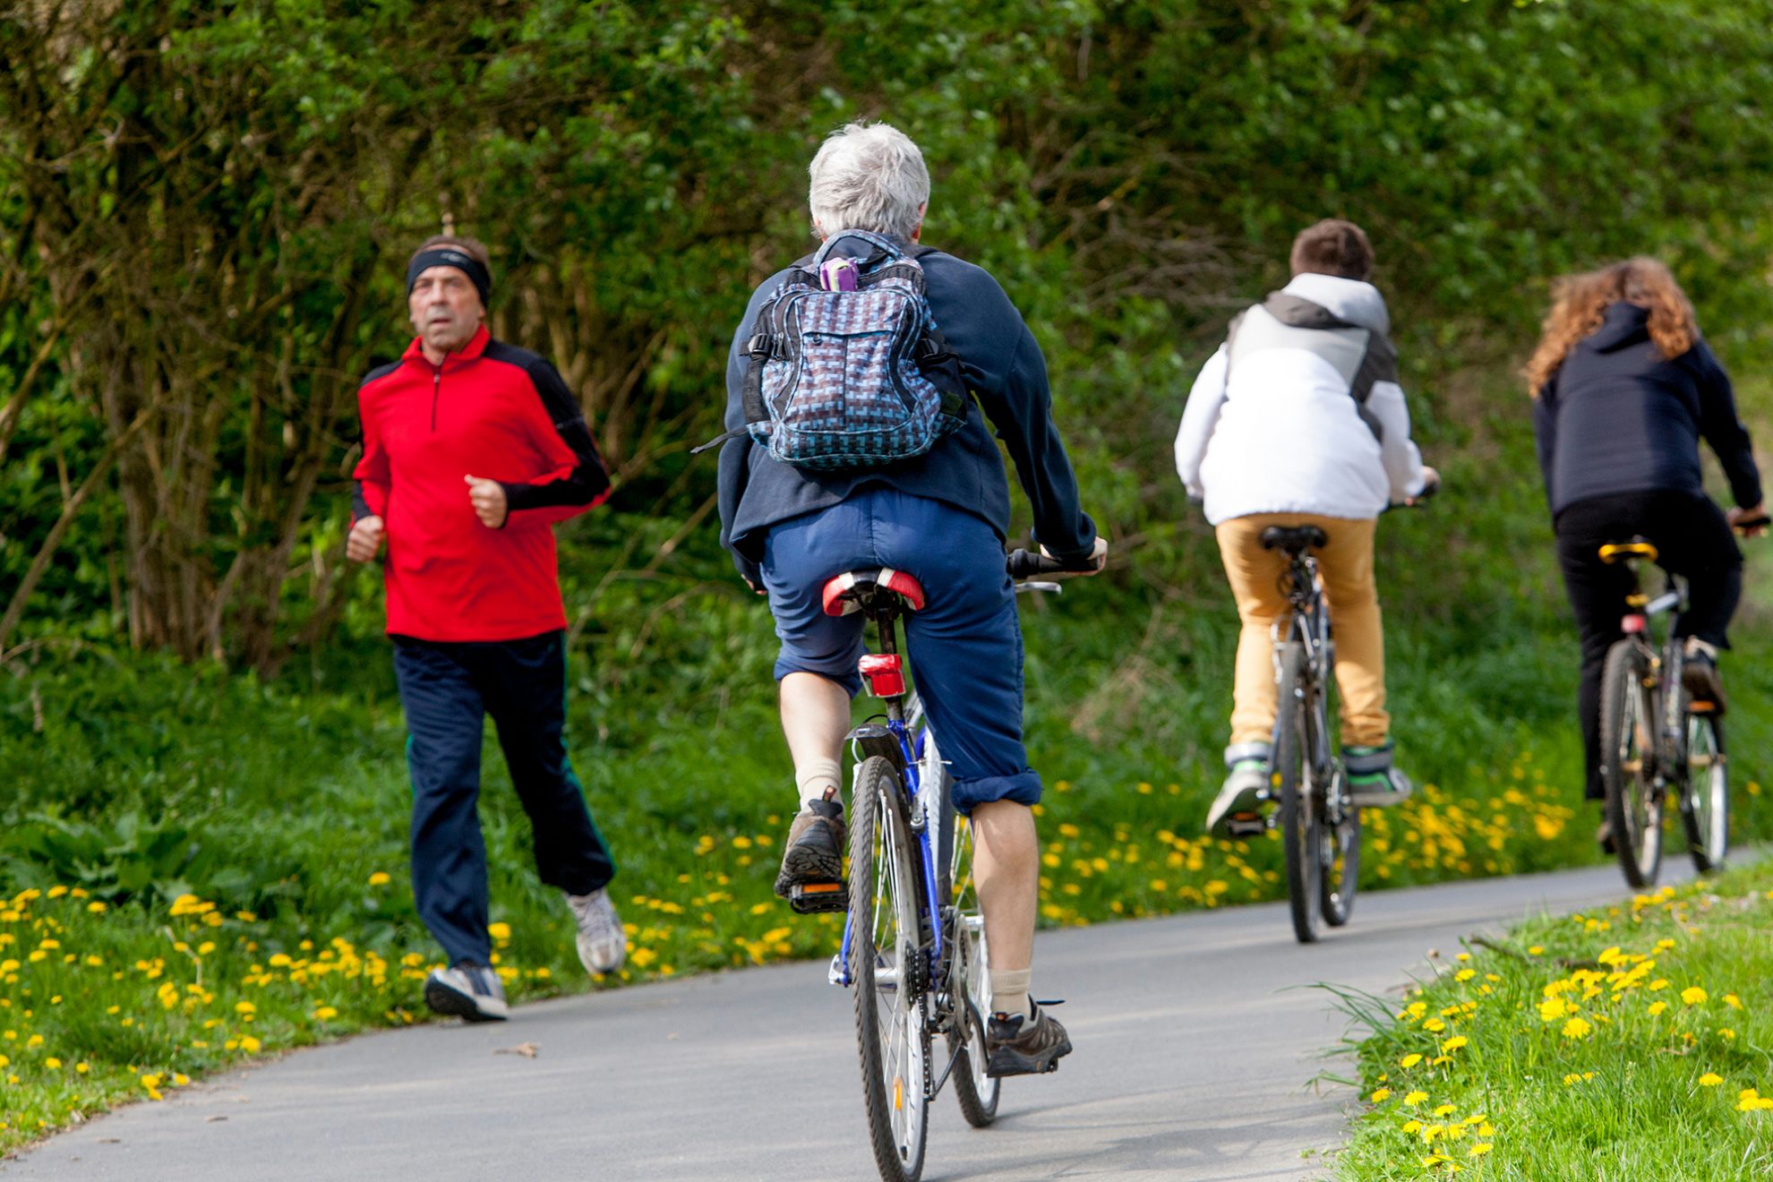
[[[426,1001],[505,1017],[491,968],[480,732],[498,728],[544,883],[566,891],[592,973],[622,964],[615,874],[564,743],[566,610],[553,523],[610,478],[553,365],[486,330],[486,246],[433,237],[406,271],[418,337],[358,390],[363,457],[346,553],[387,548],[388,634],[410,732],[413,897],[450,966]]]

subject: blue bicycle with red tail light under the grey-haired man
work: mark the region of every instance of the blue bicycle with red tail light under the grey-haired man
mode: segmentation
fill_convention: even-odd
[[[1016,578],[1069,569],[1027,551],[1009,558]],[[986,1074],[991,978],[972,833],[954,812],[952,780],[899,654],[899,617],[922,606],[924,588],[904,571],[851,571],[824,587],[826,611],[860,610],[872,624],[862,673],[885,719],[849,732],[846,881],[796,886],[789,898],[801,913],[846,913],[830,980],[855,991],[869,1136],[885,1182],[922,1175],[929,1102],[950,1079],[975,1129],[996,1118],[1000,1090]]]

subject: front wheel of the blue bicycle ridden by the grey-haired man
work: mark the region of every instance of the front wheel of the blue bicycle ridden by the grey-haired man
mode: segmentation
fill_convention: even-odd
[[[927,743],[929,739],[926,739]],[[933,760],[934,762],[934,760]],[[926,764],[929,766],[929,764]],[[959,824],[954,812],[954,780],[936,764],[941,785],[936,792],[936,891],[943,907],[954,909],[954,950],[949,968],[949,996],[954,1001],[954,1026],[949,1051],[954,1054],[954,1099],[961,1116],[973,1129],[996,1120],[1004,1081],[986,1074],[986,1023],[991,1021],[991,952],[986,946],[984,920],[973,893],[972,829]]]

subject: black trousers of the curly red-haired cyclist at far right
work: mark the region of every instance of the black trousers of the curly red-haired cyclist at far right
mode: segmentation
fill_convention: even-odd
[[[1564,587],[1582,634],[1582,688],[1576,705],[1582,714],[1582,748],[1589,780],[1585,794],[1601,799],[1601,666],[1606,650],[1624,633],[1626,595],[1631,572],[1624,565],[1606,565],[1599,549],[1608,542],[1645,537],[1660,551],[1658,562],[1686,579],[1688,608],[1674,622],[1675,636],[1729,647],[1730,617],[1743,597],[1743,551],[1736,535],[1709,496],[1691,493],[1619,493],[1596,496],[1566,507],[1553,523],[1557,556],[1564,567]],[[1649,572],[1647,572],[1649,574]],[[1661,587],[1645,578],[1651,595]]]

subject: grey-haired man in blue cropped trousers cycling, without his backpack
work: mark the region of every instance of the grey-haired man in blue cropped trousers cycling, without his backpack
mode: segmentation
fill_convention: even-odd
[[[821,241],[837,239],[828,255],[863,261],[876,248],[860,237],[865,232],[917,259],[929,310],[972,397],[957,431],[922,455],[878,468],[798,468],[743,434],[722,450],[722,542],[745,581],[769,595],[782,640],[775,675],[800,812],[777,893],[842,874],[839,758],[849,700],[860,689],[863,626],[860,615],[826,615],[821,587],[856,567],[904,571],[927,597],[906,617],[918,691],[950,760],[954,805],[970,815],[975,836],[991,946],[988,1070],[1048,1070],[1071,1042],[1028,996],[1039,902],[1030,806],[1041,797],[1041,776],[1021,741],[1021,633],[1004,572],[1011,502],[993,432],[1009,448],[1035,537],[1051,556],[1096,571],[1106,542],[1078,503],[1046,363],[1016,305],[980,268],[920,246],[929,172],[918,147],[886,124],[851,124],[819,147],[810,175],[812,230]],[[757,289],[734,335],[727,427],[745,425],[746,367],[759,363],[746,342],[784,275]]]

